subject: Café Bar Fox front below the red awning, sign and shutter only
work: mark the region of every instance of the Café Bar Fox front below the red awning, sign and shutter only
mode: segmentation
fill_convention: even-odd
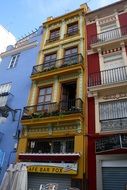
[[[83,179],[77,178],[78,163],[22,162],[27,166],[28,190],[42,190],[47,184],[55,184],[58,190],[84,190]]]

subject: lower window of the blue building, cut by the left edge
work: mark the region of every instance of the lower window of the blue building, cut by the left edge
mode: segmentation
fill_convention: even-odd
[[[0,107],[5,106],[11,90],[11,83],[0,85]]]

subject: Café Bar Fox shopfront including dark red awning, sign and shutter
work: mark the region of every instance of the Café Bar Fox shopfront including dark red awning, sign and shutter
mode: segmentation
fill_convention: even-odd
[[[79,184],[74,183],[78,175],[79,156],[78,153],[54,154],[51,156],[54,157],[53,162],[46,161],[46,157],[47,160],[50,158],[49,154],[20,154],[20,159],[22,158],[23,164],[27,166],[28,190],[41,190],[48,184],[55,184],[58,190],[67,190],[71,187],[80,189]],[[66,158],[66,162],[61,162],[61,157]]]

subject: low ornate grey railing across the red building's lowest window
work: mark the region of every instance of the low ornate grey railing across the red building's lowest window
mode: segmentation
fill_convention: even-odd
[[[101,121],[101,131],[127,130],[127,118],[109,119]]]

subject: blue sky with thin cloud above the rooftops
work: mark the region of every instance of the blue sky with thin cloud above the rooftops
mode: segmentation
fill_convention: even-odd
[[[118,0],[1,0],[0,24],[17,40],[38,28],[49,16],[60,16],[88,2],[91,10]]]

